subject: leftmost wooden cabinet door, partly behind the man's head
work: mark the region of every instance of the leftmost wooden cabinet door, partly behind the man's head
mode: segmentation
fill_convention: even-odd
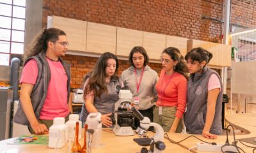
[[[68,50],[85,51],[87,22],[52,16],[52,27],[63,30],[69,42]]]

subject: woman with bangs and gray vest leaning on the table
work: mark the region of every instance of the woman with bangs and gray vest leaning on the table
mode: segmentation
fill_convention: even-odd
[[[222,132],[221,78],[216,71],[207,67],[212,54],[204,48],[193,48],[185,59],[191,73],[188,81],[188,106],[184,117],[186,130],[191,134],[215,139]]]

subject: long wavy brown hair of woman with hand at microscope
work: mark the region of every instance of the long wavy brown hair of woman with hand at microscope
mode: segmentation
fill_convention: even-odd
[[[95,67],[93,68],[92,74],[90,75],[90,81],[84,89],[84,95],[89,94],[92,91],[95,96],[100,97],[102,92],[108,92],[106,85],[106,68],[108,66],[108,59],[114,59],[116,61],[116,70],[111,79],[118,79],[118,59],[116,55],[110,52],[105,52],[100,56],[100,58],[96,62]]]

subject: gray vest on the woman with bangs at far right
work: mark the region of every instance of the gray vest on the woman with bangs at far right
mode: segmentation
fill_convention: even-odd
[[[204,129],[207,113],[208,82],[212,73],[215,73],[220,79],[220,76],[216,71],[207,68],[206,66],[202,74],[192,74],[189,77],[187,92],[188,106],[184,116],[184,122],[188,133],[201,135]],[[223,87],[221,84],[221,91],[216,101],[215,115],[210,129],[210,133],[215,135],[220,135],[222,132],[222,95]]]

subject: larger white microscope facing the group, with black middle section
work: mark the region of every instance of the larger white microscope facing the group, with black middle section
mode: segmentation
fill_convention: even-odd
[[[114,125],[113,133],[116,136],[134,135],[134,113],[131,109],[132,93],[129,90],[119,91],[119,100],[115,103],[115,119],[111,119]]]

